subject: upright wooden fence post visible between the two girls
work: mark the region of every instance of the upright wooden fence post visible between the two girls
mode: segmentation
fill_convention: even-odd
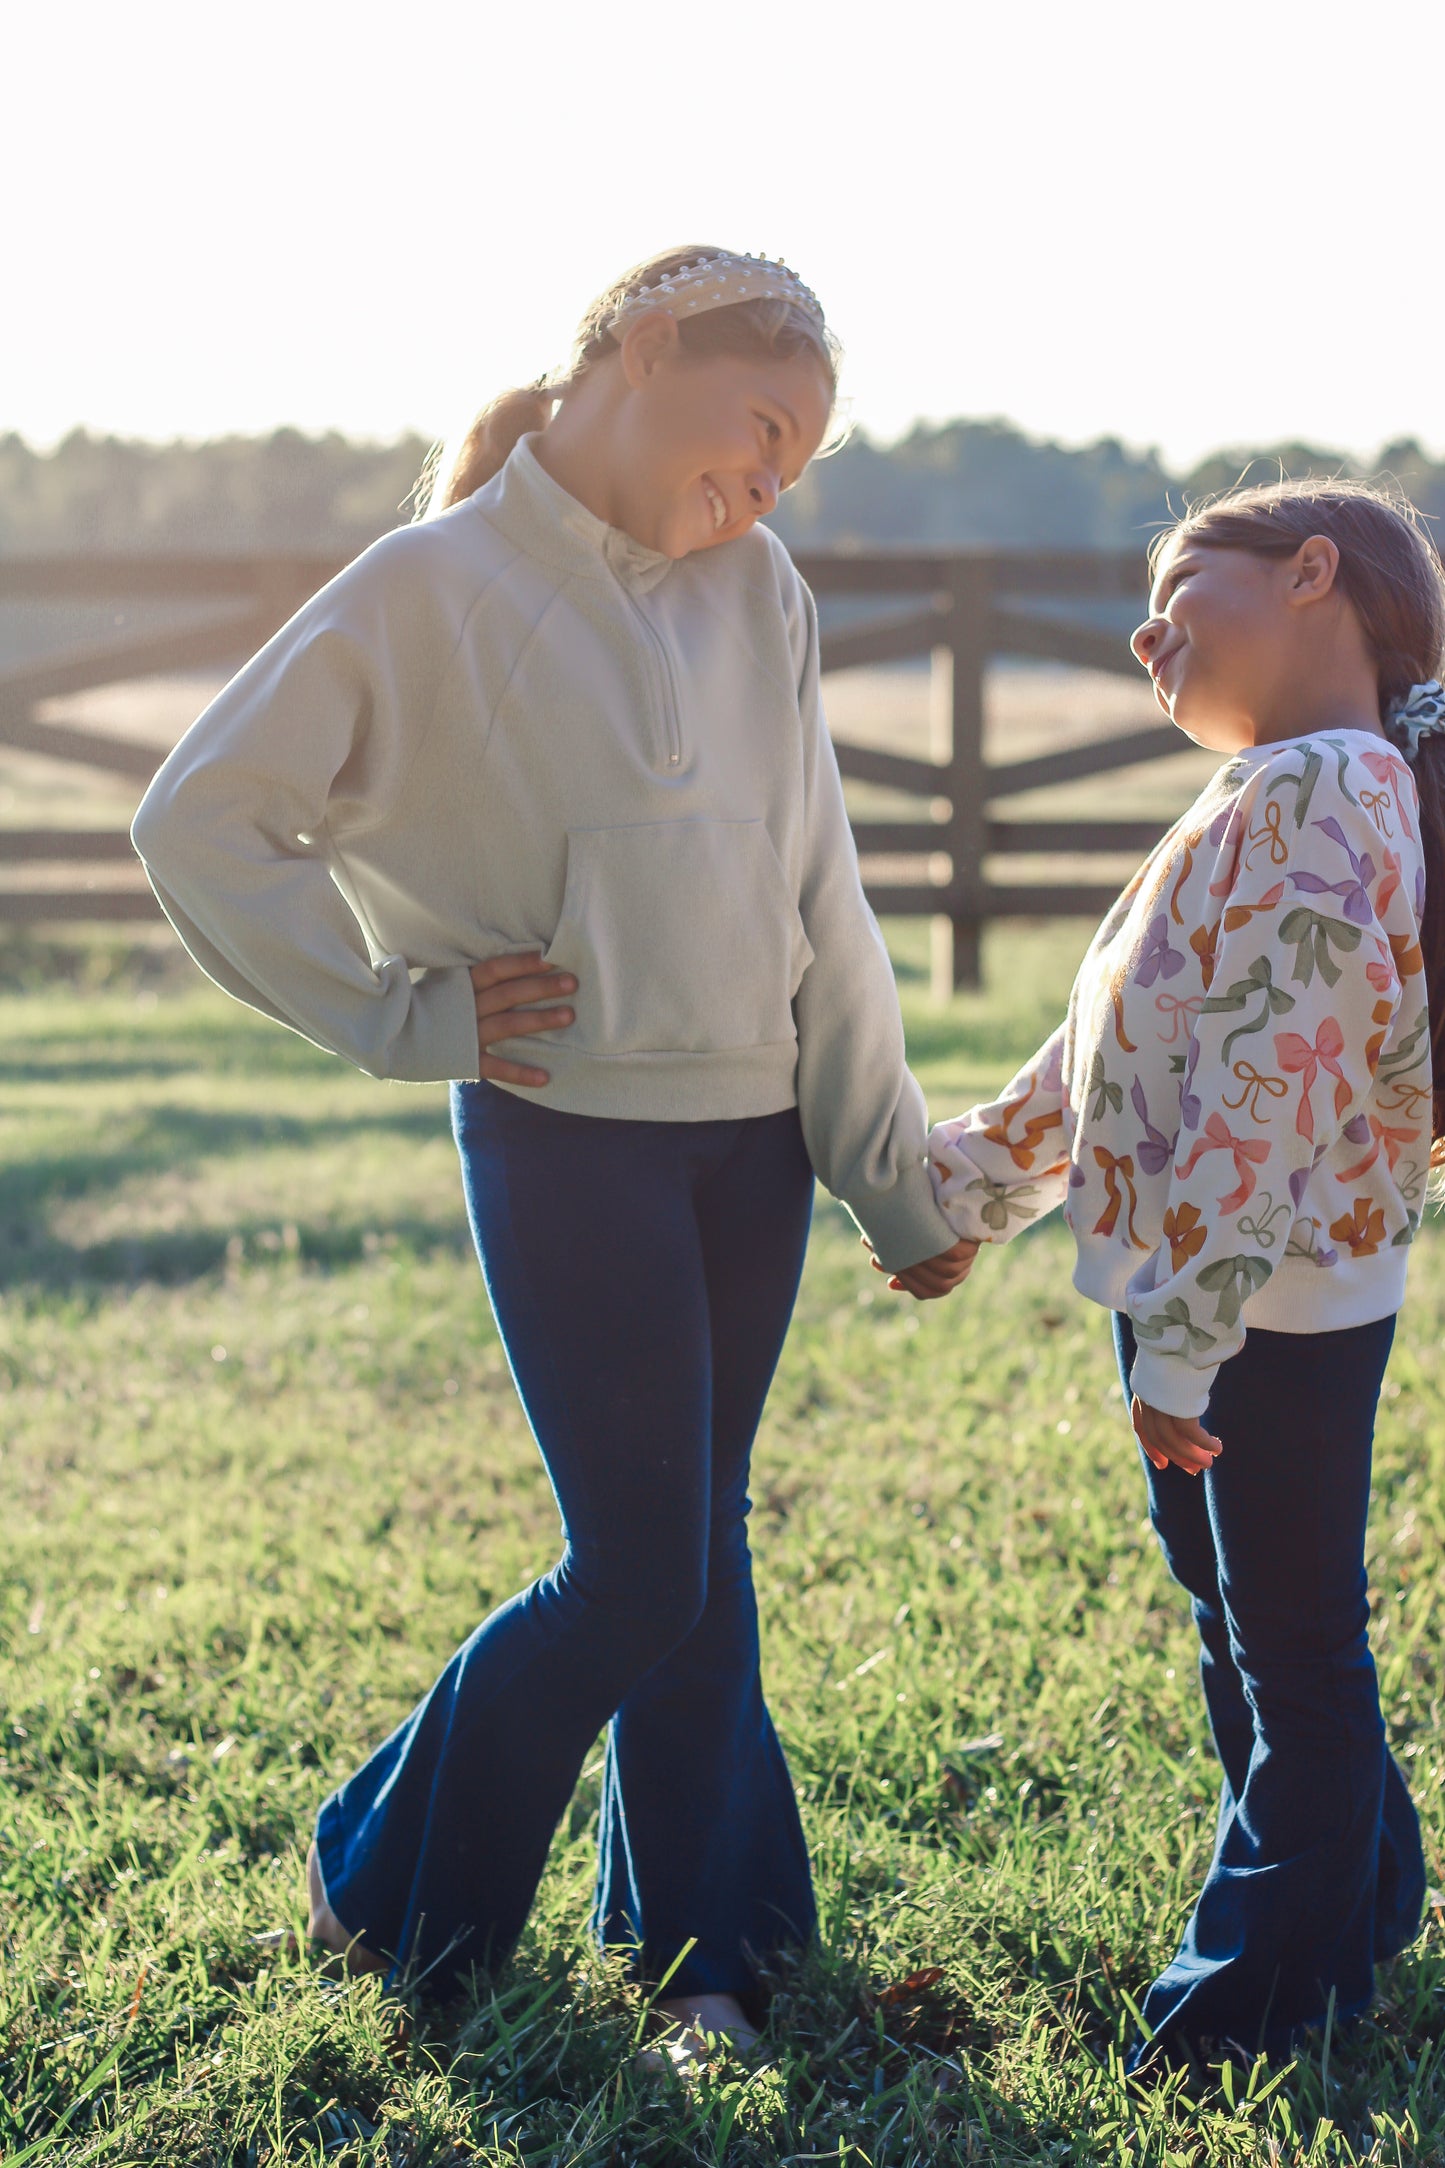
[[[992,611],[988,557],[949,566],[947,646],[934,648],[934,759],[947,767],[949,915],[934,919],[934,991],[981,984],[984,932],[984,670]]]

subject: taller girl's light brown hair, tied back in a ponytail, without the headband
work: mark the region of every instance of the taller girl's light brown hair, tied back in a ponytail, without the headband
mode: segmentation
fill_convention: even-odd
[[[572,362],[557,379],[539,377],[526,390],[503,392],[477,414],[468,427],[444,444],[438,444],[414,490],[416,518],[435,518],[448,505],[459,505],[464,496],[479,490],[492,475],[500,475],[520,438],[535,429],[546,429],[552,405],[563,397],[585,369],[617,351],[611,321],[628,295],[643,286],[654,286],[667,271],[719,256],[715,247],[665,249],[648,262],[633,264],[620,280],[604,288],[576,327]],[[732,308],[708,310],[706,317],[680,323],[678,334],[687,353],[745,353],[745,356],[789,356],[812,353],[821,362],[830,386],[838,384],[838,345],[793,301],[737,301]]]

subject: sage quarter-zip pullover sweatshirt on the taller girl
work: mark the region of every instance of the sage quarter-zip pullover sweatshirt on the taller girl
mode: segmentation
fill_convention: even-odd
[[[522,438],[373,544],[240,670],[134,846],[227,993],[377,1077],[477,1077],[468,967],[539,947],[570,1114],[797,1106],[884,1264],[953,1242],[819,698],[812,596],[765,527],[674,562]]]

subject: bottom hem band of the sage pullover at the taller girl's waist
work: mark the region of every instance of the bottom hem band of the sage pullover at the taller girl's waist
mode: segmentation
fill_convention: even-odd
[[[797,1041],[732,1047],[726,1054],[583,1054],[561,1038],[516,1038],[492,1047],[509,1062],[535,1062],[552,1082],[500,1091],[602,1121],[747,1121],[797,1106]]]

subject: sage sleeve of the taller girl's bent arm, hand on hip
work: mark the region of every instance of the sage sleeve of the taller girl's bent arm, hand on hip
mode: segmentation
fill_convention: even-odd
[[[201,969],[377,1077],[474,1077],[466,965],[377,956],[336,878],[336,824],[405,785],[455,624],[403,535],[312,598],[165,761],[132,841]],[[422,568],[425,570],[425,568]]]

